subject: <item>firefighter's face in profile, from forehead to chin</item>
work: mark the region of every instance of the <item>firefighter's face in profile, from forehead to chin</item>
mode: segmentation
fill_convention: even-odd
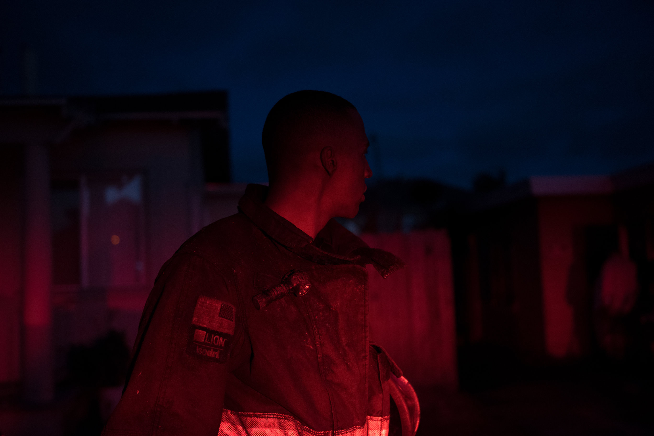
[[[356,110],[350,110],[351,122],[343,127],[343,140],[337,148],[337,169],[334,172],[336,216],[354,218],[365,199],[366,179],[372,171],[366,159],[368,137],[364,121]]]

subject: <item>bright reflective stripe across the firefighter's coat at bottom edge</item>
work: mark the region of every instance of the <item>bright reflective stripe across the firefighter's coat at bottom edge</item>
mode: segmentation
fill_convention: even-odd
[[[284,414],[223,409],[218,436],[388,436],[389,422],[390,416],[366,416],[364,426],[333,432],[315,431]]]

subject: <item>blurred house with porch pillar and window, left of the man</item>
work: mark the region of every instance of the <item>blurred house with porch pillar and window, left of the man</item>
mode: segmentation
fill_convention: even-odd
[[[50,401],[73,344],[131,346],[158,268],[236,211],[224,91],[0,101],[0,386]]]

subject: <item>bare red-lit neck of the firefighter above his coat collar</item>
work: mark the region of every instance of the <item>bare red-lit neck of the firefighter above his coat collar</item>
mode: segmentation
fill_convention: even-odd
[[[311,189],[271,187],[264,203],[312,240],[332,218],[320,207],[320,195]]]

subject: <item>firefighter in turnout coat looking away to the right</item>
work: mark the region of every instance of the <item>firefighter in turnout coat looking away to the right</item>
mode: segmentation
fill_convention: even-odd
[[[413,436],[410,384],[368,338],[368,273],[404,264],[334,221],[371,170],[356,108],[299,91],[262,134],[269,187],[163,266],[103,435]],[[392,398],[392,399],[391,399]]]

